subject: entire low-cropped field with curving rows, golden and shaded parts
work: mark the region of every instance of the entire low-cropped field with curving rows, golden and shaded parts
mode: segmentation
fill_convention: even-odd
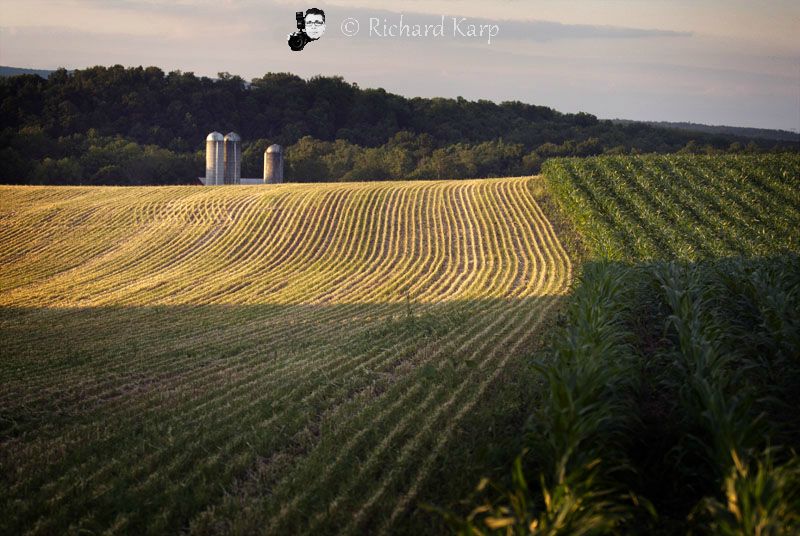
[[[431,530],[571,282],[543,195],[0,187],[0,533]]]

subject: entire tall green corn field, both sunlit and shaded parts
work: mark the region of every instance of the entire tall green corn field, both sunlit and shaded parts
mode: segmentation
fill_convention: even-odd
[[[529,454],[511,484],[445,512],[452,528],[800,533],[800,158],[554,159],[543,174],[587,254],[539,358]]]

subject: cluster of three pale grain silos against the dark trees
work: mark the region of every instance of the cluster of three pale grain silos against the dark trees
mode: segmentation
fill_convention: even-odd
[[[283,182],[283,148],[270,145],[264,151],[264,177],[242,178],[242,138],[235,132],[225,136],[212,132],[206,137],[206,186],[221,184],[278,184]]]

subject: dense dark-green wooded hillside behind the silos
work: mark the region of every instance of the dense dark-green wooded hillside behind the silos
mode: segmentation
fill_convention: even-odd
[[[244,176],[261,176],[264,148],[283,145],[288,180],[501,176],[536,173],[551,156],[798,148],[521,102],[408,99],[341,77],[248,83],[120,65],[0,79],[0,125],[0,181],[12,183],[192,182],[213,130],[242,135]]]

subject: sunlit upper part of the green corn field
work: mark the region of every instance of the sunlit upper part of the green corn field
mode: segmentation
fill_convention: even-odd
[[[544,174],[593,252],[605,259],[800,251],[796,155],[556,159]]]

